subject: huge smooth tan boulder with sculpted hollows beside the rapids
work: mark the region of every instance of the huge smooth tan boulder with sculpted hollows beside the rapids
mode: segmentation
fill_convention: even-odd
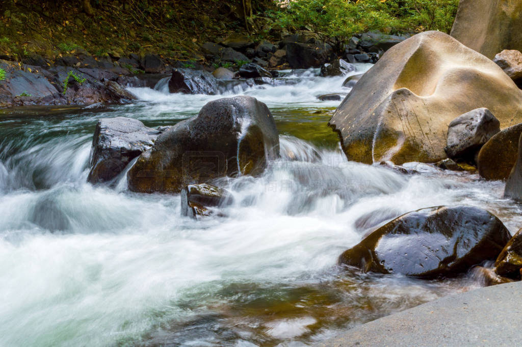
[[[487,107],[501,128],[522,121],[522,90],[487,57],[438,31],[389,51],[353,87],[330,119],[349,160],[436,162],[446,158],[448,125]]]

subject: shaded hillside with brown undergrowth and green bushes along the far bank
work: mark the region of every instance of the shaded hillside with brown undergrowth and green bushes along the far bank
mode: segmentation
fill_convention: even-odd
[[[339,43],[353,33],[448,32],[458,0],[2,0],[0,58],[152,52],[199,59],[199,46],[233,32],[254,42],[298,30]]]

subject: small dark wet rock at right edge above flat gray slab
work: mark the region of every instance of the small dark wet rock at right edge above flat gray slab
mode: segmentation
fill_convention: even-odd
[[[520,279],[522,269],[522,229],[505,245],[495,261],[495,273],[499,276]]]

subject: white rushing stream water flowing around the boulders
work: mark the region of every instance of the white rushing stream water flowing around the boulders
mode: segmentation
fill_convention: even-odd
[[[358,66],[365,70],[368,66]],[[226,178],[225,217],[180,216],[180,196],[86,183],[97,119],[148,126],[197,114],[223,95],[131,88],[102,110],[0,113],[0,346],[303,346],[435,298],[478,288],[470,272],[427,281],[337,266],[362,236],[402,213],[467,204],[513,233],[520,208],[502,182],[409,164],[404,175],[348,162],[327,122],[344,77],[234,93],[265,102],[282,158],[257,178]]]

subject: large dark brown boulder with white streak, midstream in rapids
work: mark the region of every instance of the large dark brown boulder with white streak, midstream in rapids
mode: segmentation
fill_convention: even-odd
[[[129,189],[177,193],[217,177],[259,174],[278,156],[277,128],[264,103],[246,96],[219,99],[161,134],[129,170]]]

